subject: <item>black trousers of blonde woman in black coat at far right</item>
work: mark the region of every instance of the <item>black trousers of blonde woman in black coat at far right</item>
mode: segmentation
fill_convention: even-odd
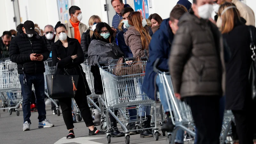
[[[235,116],[239,144],[253,144],[255,112],[252,109],[253,107],[244,110],[232,110]]]

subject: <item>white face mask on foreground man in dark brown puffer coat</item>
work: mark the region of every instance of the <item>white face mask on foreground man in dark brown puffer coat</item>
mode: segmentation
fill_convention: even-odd
[[[203,19],[209,19],[212,15],[212,4],[204,4],[197,8],[199,17]]]

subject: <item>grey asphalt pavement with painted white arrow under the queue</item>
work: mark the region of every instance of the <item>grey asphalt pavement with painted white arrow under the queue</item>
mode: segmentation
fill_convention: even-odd
[[[31,130],[22,131],[23,113],[20,109],[20,116],[13,112],[8,115],[7,111],[0,110],[0,144],[107,144],[106,135],[88,136],[89,130],[84,121],[75,123],[75,139],[67,140],[68,130],[64,123],[62,114],[52,115],[51,107],[46,106],[46,118],[55,125],[52,128],[38,129],[38,113],[31,113]],[[96,126],[99,130],[99,126]],[[161,132],[161,129],[159,131]],[[111,138],[112,144],[124,144],[124,137]],[[167,144],[167,137],[159,136],[155,141],[151,138],[140,138],[140,134],[130,136],[130,144]],[[188,142],[185,142],[188,144]],[[192,142],[190,142],[192,144]]]

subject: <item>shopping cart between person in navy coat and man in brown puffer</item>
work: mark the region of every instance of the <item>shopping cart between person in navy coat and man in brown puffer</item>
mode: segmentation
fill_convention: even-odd
[[[175,136],[179,129],[186,131],[189,136],[195,137],[193,117],[190,107],[183,101],[174,96],[174,89],[172,85],[172,77],[169,72],[162,72],[157,69],[159,58],[154,63],[154,71],[160,76],[160,80],[164,85],[164,92],[166,95],[169,111],[171,112],[172,123],[175,128],[172,132],[168,132],[168,141],[174,144]]]

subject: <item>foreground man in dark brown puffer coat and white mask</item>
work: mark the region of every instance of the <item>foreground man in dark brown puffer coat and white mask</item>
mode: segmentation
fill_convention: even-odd
[[[220,98],[225,94],[223,40],[210,18],[212,0],[193,3],[179,20],[168,64],[175,96],[191,108],[197,144],[219,144]]]

